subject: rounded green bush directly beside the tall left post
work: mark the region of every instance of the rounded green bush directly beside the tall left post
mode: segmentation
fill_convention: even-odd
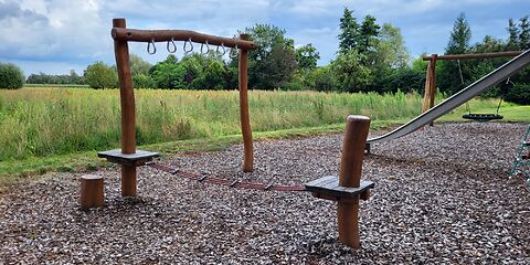
[[[85,82],[92,88],[114,88],[118,84],[118,75],[115,70],[103,62],[95,62],[85,70]]]

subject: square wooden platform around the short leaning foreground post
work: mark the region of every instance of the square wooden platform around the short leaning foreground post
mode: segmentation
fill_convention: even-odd
[[[327,197],[353,199],[374,186],[372,181],[361,181],[359,188],[341,187],[338,177],[327,176],[306,183],[306,190]]]

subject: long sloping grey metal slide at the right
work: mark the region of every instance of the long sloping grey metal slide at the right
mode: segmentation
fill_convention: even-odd
[[[411,121],[402,125],[401,127],[390,131],[386,135],[379,136],[367,140],[367,144],[388,141],[402,136],[409,135],[418,128],[425,126],[426,124],[435,120],[442,115],[455,109],[467,100],[480,94],[480,92],[488,89],[489,87],[497,85],[501,81],[508,78],[509,76],[516,74],[524,66],[530,64],[530,50],[524,51],[519,56],[512,59],[502,66],[494,70],[491,73],[485,75],[483,78],[470,84],[466,88],[412,119]]]

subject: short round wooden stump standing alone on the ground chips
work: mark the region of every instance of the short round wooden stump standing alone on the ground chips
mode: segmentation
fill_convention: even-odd
[[[97,174],[85,174],[81,177],[81,208],[100,208],[105,204],[103,194],[103,177]]]

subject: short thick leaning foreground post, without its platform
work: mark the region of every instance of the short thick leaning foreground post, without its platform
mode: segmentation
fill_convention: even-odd
[[[340,160],[339,186],[360,187],[364,145],[369,129],[369,117],[359,115],[348,116]],[[354,248],[360,246],[358,215],[359,197],[352,200],[339,200],[337,209],[339,241]]]

